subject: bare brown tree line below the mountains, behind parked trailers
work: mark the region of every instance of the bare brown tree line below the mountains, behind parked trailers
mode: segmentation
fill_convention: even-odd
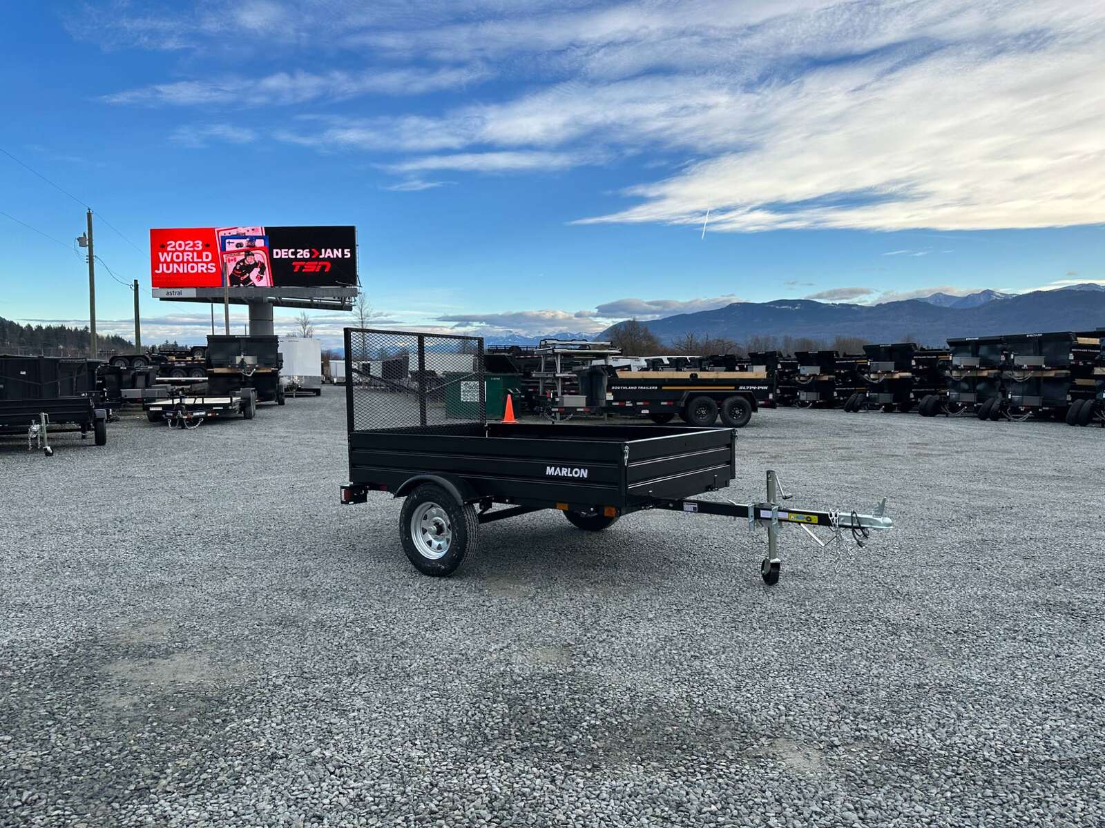
[[[863,353],[863,346],[871,340],[862,337],[834,337],[831,340],[811,339],[809,337],[771,337],[753,336],[744,342],[737,342],[725,337],[702,337],[697,333],[684,333],[675,339],[663,342],[649,326],[630,319],[614,328],[610,341],[622,353],[632,357],[655,357],[659,354],[672,357],[698,357],[709,354],[747,355],[755,351],[779,351],[793,354],[796,351],[836,351],[838,353]],[[915,341],[906,335],[903,342]]]

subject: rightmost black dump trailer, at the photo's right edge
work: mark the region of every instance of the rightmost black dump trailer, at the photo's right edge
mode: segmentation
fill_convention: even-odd
[[[1099,333],[1008,335],[1004,346],[1004,399],[991,407],[991,418],[1031,416],[1066,420],[1071,425],[1088,425],[1096,418],[1094,368],[1101,354]]]

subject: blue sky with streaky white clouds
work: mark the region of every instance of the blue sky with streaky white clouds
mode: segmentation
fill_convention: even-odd
[[[1099,3],[6,11],[0,147],[76,197],[0,155],[53,237],[0,215],[8,318],[86,321],[78,201],[147,339],[208,319],[149,297],[151,226],[356,224],[382,323],[486,332],[1105,279]],[[129,335],[104,268],[97,298]]]

